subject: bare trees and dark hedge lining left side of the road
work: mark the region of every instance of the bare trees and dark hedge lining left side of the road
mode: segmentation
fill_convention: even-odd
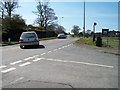
[[[0,25],[2,32],[2,45],[18,43],[22,32],[35,31],[38,38],[48,40],[57,37],[59,33],[66,33],[65,28],[58,24],[58,17],[54,9],[49,6],[49,1],[36,1],[36,11],[31,11],[38,17],[34,21],[37,25],[27,24],[20,14],[15,14],[19,7],[18,0],[0,1]],[[33,23],[33,22],[31,22]],[[10,42],[9,39],[10,38]],[[2,46],[0,45],[0,46]]]

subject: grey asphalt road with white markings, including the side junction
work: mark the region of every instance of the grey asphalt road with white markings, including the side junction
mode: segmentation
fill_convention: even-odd
[[[77,39],[2,47],[2,88],[118,88],[118,56],[76,46]]]

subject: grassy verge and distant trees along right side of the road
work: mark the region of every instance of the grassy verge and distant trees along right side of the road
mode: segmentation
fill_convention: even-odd
[[[103,35],[102,32],[94,33],[92,30],[86,30],[85,35],[83,32],[79,32],[81,29],[79,26],[73,26],[71,32],[71,37],[80,38],[75,43],[76,44],[86,44],[91,46],[99,46],[104,48],[109,48],[113,50],[118,50],[120,45],[120,31],[108,31],[106,35]],[[93,36],[95,35],[95,41]]]

